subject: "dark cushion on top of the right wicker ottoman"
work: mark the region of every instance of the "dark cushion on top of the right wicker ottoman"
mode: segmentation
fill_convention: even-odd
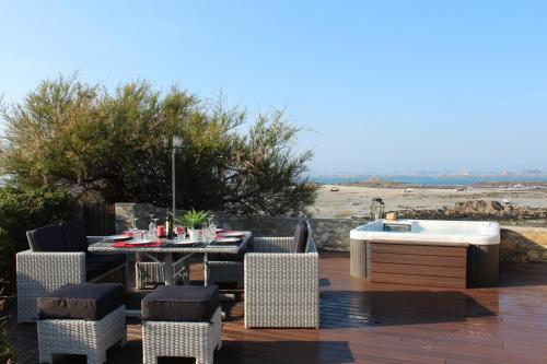
[[[162,285],[141,301],[143,320],[203,321],[219,307],[216,285]]]

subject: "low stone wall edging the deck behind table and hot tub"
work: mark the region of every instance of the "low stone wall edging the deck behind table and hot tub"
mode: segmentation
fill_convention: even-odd
[[[150,213],[160,221],[165,219],[165,208],[139,203],[116,203],[116,231],[129,226],[138,218],[137,226],[147,228]],[[177,214],[181,212],[177,212]],[[249,230],[255,236],[292,236],[296,218],[248,218],[217,214],[216,221],[223,228]],[[315,242],[319,248],[349,250],[350,230],[366,223],[365,219],[311,219]],[[547,228],[503,226],[501,230],[500,259],[511,262],[547,262]]]

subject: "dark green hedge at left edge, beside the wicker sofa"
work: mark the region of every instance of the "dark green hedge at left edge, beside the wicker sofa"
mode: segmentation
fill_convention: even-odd
[[[26,231],[74,219],[77,212],[75,200],[66,191],[1,187],[0,281],[13,283],[15,254],[28,248]]]

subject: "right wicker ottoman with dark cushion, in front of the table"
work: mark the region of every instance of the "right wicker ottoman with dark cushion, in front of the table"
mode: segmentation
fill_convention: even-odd
[[[143,363],[160,356],[213,362],[222,345],[219,289],[216,285],[164,285],[141,301]]]

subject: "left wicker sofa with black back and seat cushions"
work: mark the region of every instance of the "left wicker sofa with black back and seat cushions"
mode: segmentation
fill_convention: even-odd
[[[97,282],[117,270],[126,272],[127,256],[88,253],[88,245],[103,237],[86,236],[82,221],[38,227],[26,237],[31,249],[16,255],[20,322],[36,320],[38,296],[68,283]]]

